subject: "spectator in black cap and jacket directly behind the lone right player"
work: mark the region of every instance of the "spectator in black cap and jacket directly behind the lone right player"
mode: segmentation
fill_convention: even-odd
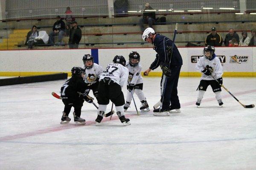
[[[205,39],[205,46],[210,45],[214,47],[221,46],[223,39],[220,34],[217,33],[216,28],[212,27],[212,33]]]

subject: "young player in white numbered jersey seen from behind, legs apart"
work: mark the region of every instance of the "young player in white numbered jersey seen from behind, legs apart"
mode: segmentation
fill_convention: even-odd
[[[125,104],[122,87],[126,85],[129,71],[125,67],[125,58],[115,56],[113,63],[109,64],[106,70],[99,77],[99,96],[98,96],[98,116],[96,124],[102,121],[109,100],[116,106],[116,114],[120,121],[126,126],[130,125],[130,120],[125,118],[123,105]]]

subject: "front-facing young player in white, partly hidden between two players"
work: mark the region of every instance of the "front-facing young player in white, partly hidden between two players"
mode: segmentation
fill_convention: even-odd
[[[85,70],[84,82],[86,82],[87,88],[93,91],[93,95],[97,99],[99,76],[102,74],[103,68],[102,66],[94,63],[94,58],[90,54],[84,55],[83,62],[83,68]]]

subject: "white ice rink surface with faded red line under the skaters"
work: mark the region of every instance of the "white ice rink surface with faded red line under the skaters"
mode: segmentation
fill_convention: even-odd
[[[243,104],[256,104],[255,78],[224,77],[223,83]],[[256,108],[243,108],[224,89],[221,108],[210,87],[196,108],[199,77],[180,78],[181,113],[163,117],[153,116],[160,78],[144,78],[151,111],[137,116],[132,104],[129,126],[116,114],[96,126],[96,108],[86,102],[81,112],[86,125],[73,124],[73,109],[70,123],[61,125],[64,104],[51,92],[63,84],[0,87],[0,170],[256,169]]]

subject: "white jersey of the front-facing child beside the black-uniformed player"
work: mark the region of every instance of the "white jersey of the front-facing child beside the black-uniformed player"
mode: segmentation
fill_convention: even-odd
[[[84,76],[84,82],[86,83],[93,83],[103,73],[103,68],[102,66],[93,63],[92,68],[85,68],[83,66],[82,68],[85,69],[85,76]]]

